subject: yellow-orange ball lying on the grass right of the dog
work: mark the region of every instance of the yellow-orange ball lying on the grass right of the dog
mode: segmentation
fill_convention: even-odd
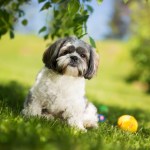
[[[133,116],[123,115],[118,119],[118,126],[125,131],[136,132],[138,129],[138,122]]]

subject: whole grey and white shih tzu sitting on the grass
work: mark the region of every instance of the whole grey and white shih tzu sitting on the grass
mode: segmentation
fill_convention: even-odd
[[[85,79],[98,68],[94,48],[76,37],[59,39],[43,54],[45,67],[29,91],[22,113],[59,117],[80,130],[97,127],[96,107],[85,97]]]

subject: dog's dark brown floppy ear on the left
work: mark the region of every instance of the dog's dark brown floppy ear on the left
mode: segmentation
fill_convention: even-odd
[[[43,54],[43,62],[49,69],[56,69],[56,59],[60,48],[65,43],[66,39],[59,39],[47,48]]]

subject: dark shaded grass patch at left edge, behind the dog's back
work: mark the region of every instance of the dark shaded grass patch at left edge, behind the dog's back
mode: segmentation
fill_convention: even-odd
[[[8,107],[14,113],[19,113],[23,107],[28,87],[16,81],[0,84],[0,104]]]

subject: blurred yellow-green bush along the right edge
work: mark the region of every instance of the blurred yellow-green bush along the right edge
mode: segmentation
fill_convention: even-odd
[[[135,65],[129,81],[145,83],[147,92],[150,92],[150,3],[139,1],[131,3],[130,7],[133,35],[131,57]]]

